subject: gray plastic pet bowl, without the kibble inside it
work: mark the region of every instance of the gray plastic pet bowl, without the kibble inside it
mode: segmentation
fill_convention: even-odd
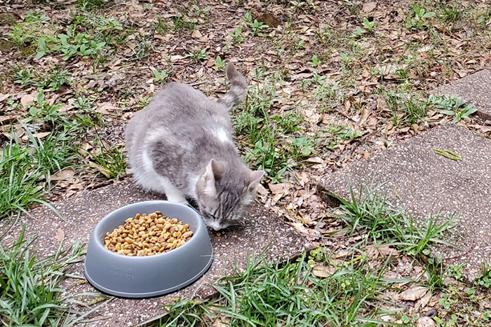
[[[191,239],[155,256],[124,256],[104,247],[106,232],[136,214],[154,211],[189,223]],[[90,236],[84,267],[90,284],[102,292],[123,298],[149,298],[193,283],[208,270],[212,260],[208,231],[194,209],[175,202],[147,201],[129,204],[102,218]]]

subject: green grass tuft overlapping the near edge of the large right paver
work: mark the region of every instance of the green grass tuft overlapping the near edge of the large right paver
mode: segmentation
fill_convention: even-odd
[[[412,256],[421,253],[429,255],[429,245],[440,243],[450,245],[445,241],[444,232],[449,232],[455,225],[455,216],[443,218],[440,215],[430,215],[421,223],[416,223],[412,216],[394,208],[386,197],[360,188],[356,197],[350,187],[350,201],[335,197],[339,205],[339,218],[347,225],[349,232],[355,231],[365,235],[365,239],[373,244],[391,244],[398,246],[401,251]]]

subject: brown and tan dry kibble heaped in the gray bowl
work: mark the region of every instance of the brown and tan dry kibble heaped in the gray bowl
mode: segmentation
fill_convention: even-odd
[[[106,233],[104,242],[106,249],[126,256],[154,256],[181,246],[192,235],[189,224],[155,211],[126,219],[124,225]]]

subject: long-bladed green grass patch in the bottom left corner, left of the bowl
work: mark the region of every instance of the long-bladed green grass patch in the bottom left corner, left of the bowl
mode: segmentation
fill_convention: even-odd
[[[69,268],[80,262],[84,245],[76,242],[67,252],[62,242],[52,256],[36,259],[22,228],[17,241],[0,244],[0,321],[3,326],[73,326],[76,315],[62,298],[60,283]]]

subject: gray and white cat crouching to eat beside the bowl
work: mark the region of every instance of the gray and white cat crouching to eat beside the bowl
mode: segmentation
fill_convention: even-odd
[[[217,102],[189,85],[168,83],[126,127],[136,183],[173,202],[198,204],[203,220],[220,230],[243,222],[263,171],[244,165],[232,138],[229,110],[247,84],[227,65],[231,88]]]

